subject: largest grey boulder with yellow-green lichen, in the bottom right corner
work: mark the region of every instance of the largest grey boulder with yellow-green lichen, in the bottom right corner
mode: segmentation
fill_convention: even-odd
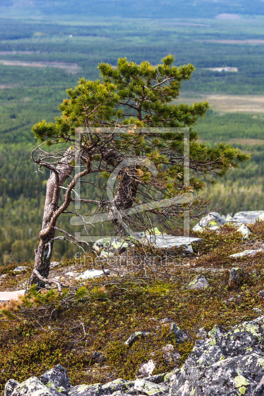
[[[196,340],[182,368],[174,372],[170,394],[262,395],[264,356],[260,346],[264,343],[263,320],[264,315],[243,322],[225,334],[214,326],[210,333],[215,338]]]

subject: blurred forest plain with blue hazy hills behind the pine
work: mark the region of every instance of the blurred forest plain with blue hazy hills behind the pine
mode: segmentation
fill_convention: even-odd
[[[197,70],[180,102],[212,103],[199,121],[208,145],[226,141],[252,160],[206,189],[223,214],[264,209],[263,1],[9,1],[0,4],[0,265],[30,261],[38,244],[47,173],[34,173],[32,124],[59,115],[65,89],[99,77],[101,61],[156,65],[172,53]],[[234,71],[219,68],[233,67]],[[218,68],[218,70],[213,70]],[[58,227],[82,232],[59,219]],[[94,235],[108,230],[98,227]],[[54,258],[76,248],[57,242]],[[12,257],[12,258],[11,258]]]

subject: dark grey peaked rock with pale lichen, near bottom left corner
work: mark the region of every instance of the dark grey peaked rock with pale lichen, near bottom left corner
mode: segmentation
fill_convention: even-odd
[[[40,381],[44,385],[56,389],[63,394],[67,394],[67,391],[72,386],[67,375],[67,370],[60,364],[57,364],[57,366],[42,374]]]

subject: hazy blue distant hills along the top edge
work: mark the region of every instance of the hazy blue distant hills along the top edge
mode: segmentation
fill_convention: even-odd
[[[19,0],[2,0],[2,8],[12,11],[13,8],[24,13],[37,15],[81,14],[99,15],[106,17],[133,17],[133,18],[210,18],[219,13],[238,13],[242,15],[264,14],[264,4],[261,0],[169,0],[155,2],[151,0],[70,0],[70,1],[39,1],[30,3]]]

